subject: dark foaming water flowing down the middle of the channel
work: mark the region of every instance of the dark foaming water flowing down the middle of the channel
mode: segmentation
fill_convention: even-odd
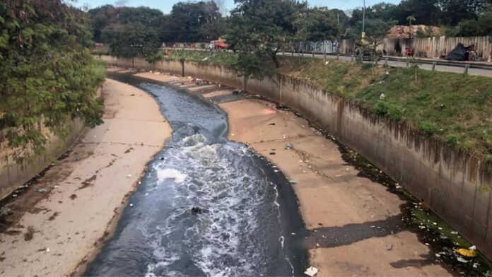
[[[173,129],[86,276],[293,276],[303,222],[281,172],[225,139],[227,115],[197,95],[110,75],[151,93]]]

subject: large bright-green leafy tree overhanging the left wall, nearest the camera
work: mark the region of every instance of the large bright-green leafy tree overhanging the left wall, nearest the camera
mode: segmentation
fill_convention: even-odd
[[[45,153],[42,126],[63,137],[74,117],[102,123],[95,93],[104,68],[88,52],[81,11],[61,0],[4,0],[0,33],[0,143],[14,158]]]

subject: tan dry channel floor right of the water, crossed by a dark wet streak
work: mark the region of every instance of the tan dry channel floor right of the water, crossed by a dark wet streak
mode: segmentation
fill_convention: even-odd
[[[187,80],[156,73],[138,76]],[[218,88],[204,97],[225,94]],[[359,171],[347,165],[336,143],[311,129],[305,119],[257,99],[220,107],[228,113],[228,139],[249,144],[298,182],[294,190],[306,228],[330,238],[320,247],[309,245],[310,263],[320,269],[317,276],[450,275],[416,234],[394,228],[404,202],[381,184],[358,177]],[[286,149],[286,143],[293,149]]]

